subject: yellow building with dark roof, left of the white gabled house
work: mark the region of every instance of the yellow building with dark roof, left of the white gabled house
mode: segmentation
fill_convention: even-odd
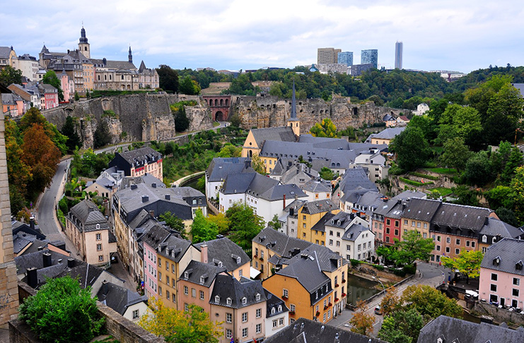
[[[298,211],[298,238],[325,246],[325,232],[311,230],[327,212],[337,214],[340,209],[332,200],[317,200],[305,203]]]

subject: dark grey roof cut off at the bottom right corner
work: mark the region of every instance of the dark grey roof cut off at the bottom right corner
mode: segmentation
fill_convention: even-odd
[[[417,342],[437,342],[438,338],[442,338],[445,343],[516,343],[524,342],[524,330],[511,330],[487,323],[471,323],[441,315],[421,328]]]

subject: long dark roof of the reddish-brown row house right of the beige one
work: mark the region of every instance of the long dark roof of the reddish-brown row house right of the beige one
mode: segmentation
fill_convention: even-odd
[[[480,231],[491,212],[493,210],[484,207],[442,203],[433,217],[432,224]]]

